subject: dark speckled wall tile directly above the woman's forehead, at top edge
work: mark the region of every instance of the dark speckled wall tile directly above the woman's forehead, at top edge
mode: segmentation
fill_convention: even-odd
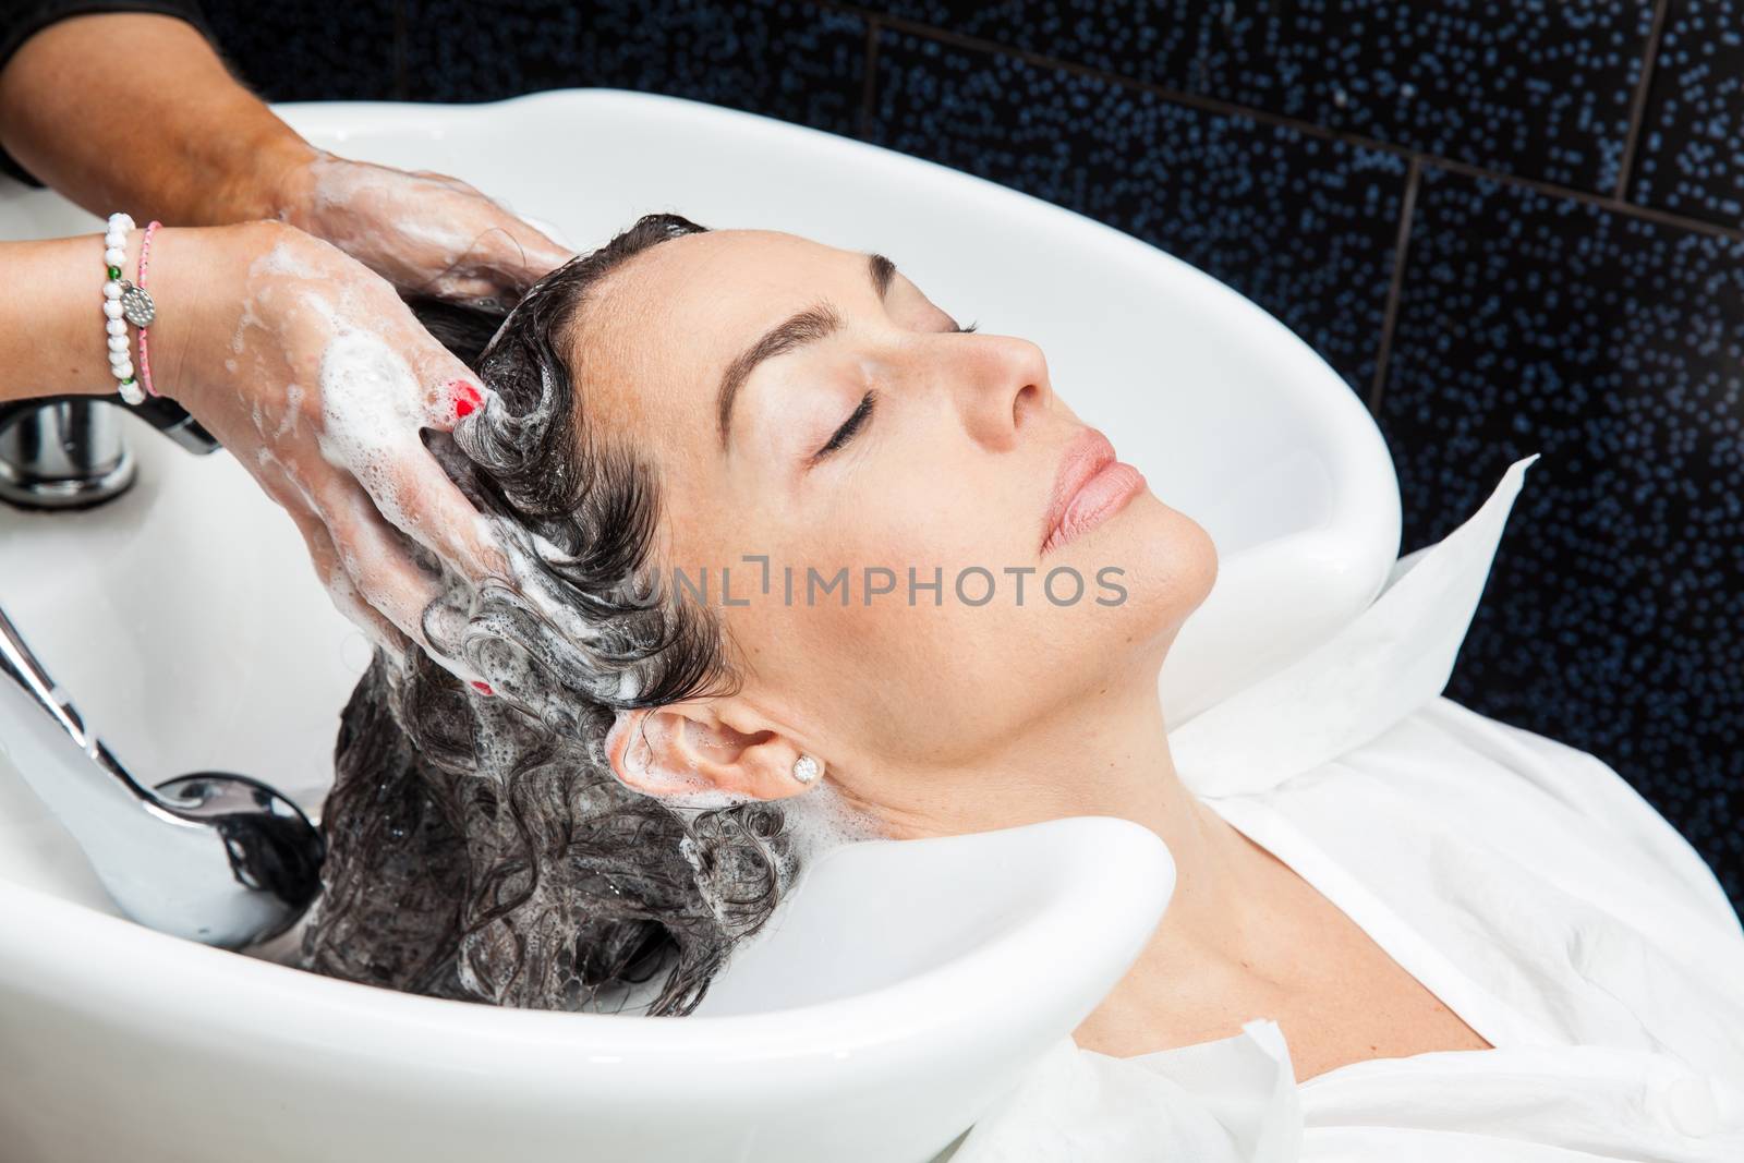
[[[605,85],[842,134],[858,127],[867,49],[858,16],[797,0],[408,0],[408,7],[413,99],[494,101]]]

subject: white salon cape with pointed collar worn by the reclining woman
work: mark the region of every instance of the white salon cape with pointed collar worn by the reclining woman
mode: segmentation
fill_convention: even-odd
[[[1744,931],[1611,767],[1442,697],[1526,467],[1371,607],[1170,732],[1181,778],[1493,1050],[1296,1081],[1282,1029],[1062,1039],[940,1160],[1744,1163]]]

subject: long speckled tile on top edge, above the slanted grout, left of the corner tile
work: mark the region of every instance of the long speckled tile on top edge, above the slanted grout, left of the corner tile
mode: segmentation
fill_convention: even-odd
[[[1584,190],[1617,187],[1653,0],[870,0],[1121,77]]]

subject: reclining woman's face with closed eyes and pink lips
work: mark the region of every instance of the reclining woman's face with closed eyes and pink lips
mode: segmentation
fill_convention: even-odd
[[[1113,685],[1155,692],[1217,570],[1118,466],[1067,504],[1088,523],[1050,532],[1062,462],[1081,457],[1071,493],[1106,457],[1041,349],[959,331],[881,265],[778,232],[677,237],[607,275],[570,352],[584,424],[659,478],[661,582],[706,577],[745,680],[726,722],[839,781],[968,767]]]

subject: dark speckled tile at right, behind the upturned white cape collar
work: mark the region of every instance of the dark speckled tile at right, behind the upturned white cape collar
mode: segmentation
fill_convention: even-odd
[[[1543,453],[1448,697],[1608,762],[1744,903],[1744,242],[1427,169],[1378,418],[1406,551]]]

